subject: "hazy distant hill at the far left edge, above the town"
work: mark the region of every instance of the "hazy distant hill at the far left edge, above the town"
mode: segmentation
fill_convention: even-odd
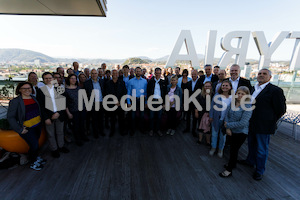
[[[54,62],[55,59],[45,54],[25,49],[0,49],[0,62]]]

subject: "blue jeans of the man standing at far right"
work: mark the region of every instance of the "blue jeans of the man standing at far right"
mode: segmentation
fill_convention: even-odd
[[[251,165],[256,165],[256,172],[264,174],[266,162],[269,153],[270,134],[255,134],[248,135],[248,156],[247,162]]]

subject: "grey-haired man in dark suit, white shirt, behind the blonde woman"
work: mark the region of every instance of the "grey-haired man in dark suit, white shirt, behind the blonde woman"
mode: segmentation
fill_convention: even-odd
[[[240,77],[240,73],[241,73],[241,68],[239,65],[237,64],[233,64],[230,67],[230,78],[229,81],[232,84],[232,89],[234,90],[234,92],[236,92],[236,90],[240,87],[240,86],[246,86],[247,88],[249,88],[249,90],[252,90],[252,86],[249,80]]]

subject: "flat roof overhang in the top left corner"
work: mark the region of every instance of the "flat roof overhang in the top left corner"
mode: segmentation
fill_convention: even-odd
[[[0,14],[106,17],[106,0],[0,0]]]

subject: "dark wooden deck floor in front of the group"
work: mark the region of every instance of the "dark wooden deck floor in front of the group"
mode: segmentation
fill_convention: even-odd
[[[228,160],[208,155],[191,134],[91,139],[70,144],[58,159],[45,151],[45,168],[0,171],[0,199],[300,199],[300,143],[282,133],[271,138],[262,181],[253,169],[237,166],[233,176],[218,173]],[[240,157],[247,153],[246,143]]]

